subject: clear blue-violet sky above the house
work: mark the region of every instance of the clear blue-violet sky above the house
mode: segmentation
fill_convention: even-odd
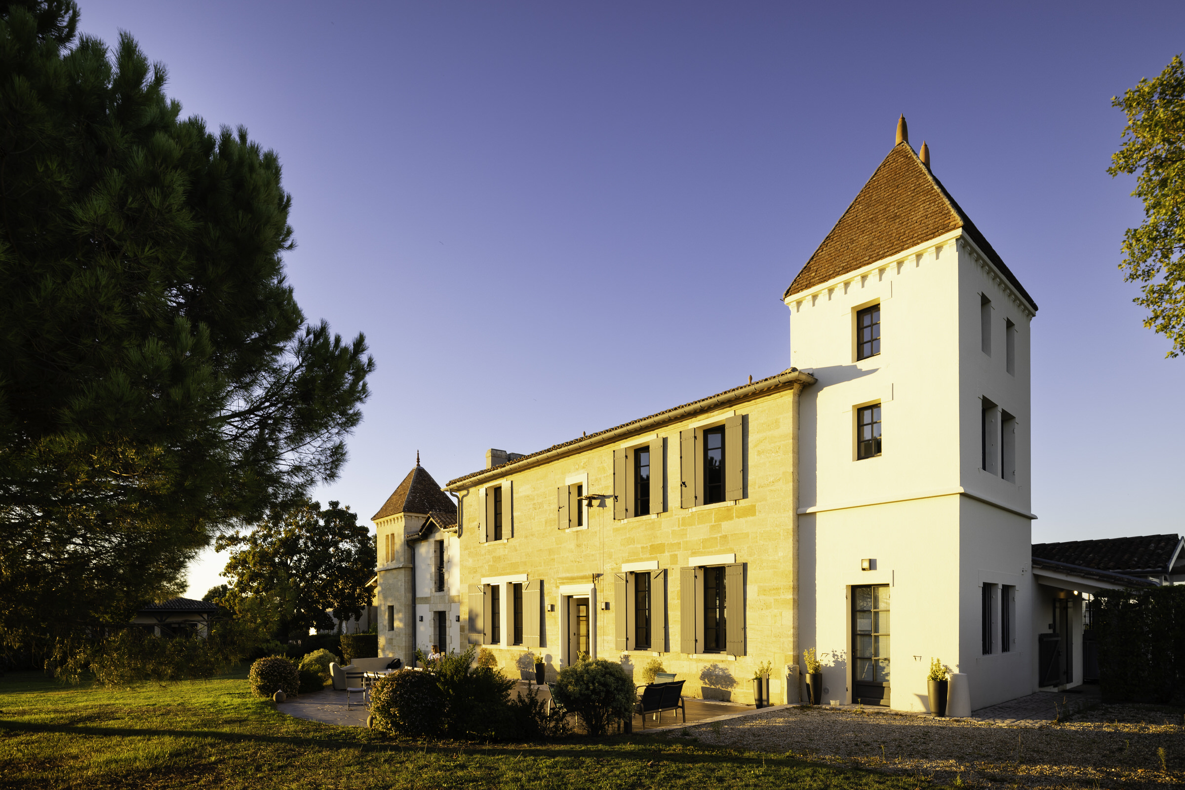
[[[1185,4],[81,5],[280,154],[297,301],[378,365],[322,502],[369,518],[417,449],[443,484],[788,367],[781,293],[904,113],[1040,306],[1035,541],[1181,531],[1185,359],[1116,269],[1142,211],[1106,168]]]

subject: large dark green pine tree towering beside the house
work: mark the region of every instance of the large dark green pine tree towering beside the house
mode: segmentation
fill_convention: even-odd
[[[333,480],[373,361],[306,322],[280,160],[206,129],[73,0],[0,0],[0,631],[177,595]]]

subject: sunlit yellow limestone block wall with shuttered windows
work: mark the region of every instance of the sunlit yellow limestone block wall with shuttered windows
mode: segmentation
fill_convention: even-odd
[[[795,524],[795,400],[796,392],[787,387],[757,396],[729,409],[697,415],[694,418],[664,425],[656,431],[639,433],[558,458],[505,477],[483,481],[482,486],[512,484],[512,519],[504,524],[504,539],[480,540],[483,512],[479,487],[456,489],[463,496],[461,513],[462,599],[461,627],[467,630],[470,585],[502,584],[501,638],[485,644],[499,663],[517,676],[525,653],[542,656],[553,674],[574,659],[569,649],[571,630],[569,596],[588,596],[590,614],[590,653],[594,657],[621,661],[639,676],[649,660],[658,659],[667,672],[686,681],[684,691],[692,696],[751,701],[750,679],[758,663],[774,666],[773,698],[798,699],[798,680],[793,674],[793,528]],[[692,426],[719,423],[741,416],[744,429],[743,499],[683,508],[680,506],[679,431]],[[665,509],[661,513],[614,520],[614,449],[666,439]],[[653,461],[652,461],[653,463]],[[655,474],[652,468],[652,474]],[[609,494],[588,509],[584,526],[559,529],[557,525],[557,488],[582,481],[589,494]],[[653,506],[652,506],[653,507]],[[505,508],[505,501],[504,501]],[[744,565],[743,655],[694,654],[681,651],[683,602],[680,569],[693,558],[715,558],[722,564],[731,555]],[[723,558],[723,559],[722,559]],[[655,638],[652,650],[617,648],[615,615],[630,602],[616,598],[615,579],[623,565],[649,564],[665,570],[665,634]],[[539,647],[512,644],[508,619],[511,579],[542,580],[544,611]],[[660,595],[655,591],[654,595]],[[480,597],[478,598],[480,600]],[[602,606],[609,605],[606,610]],[[737,624],[729,622],[729,629]],[[469,641],[488,640],[473,635]],[[467,635],[469,636],[469,635]],[[658,631],[655,629],[655,636]],[[529,664],[530,661],[524,661]],[[792,674],[790,682],[787,675]]]

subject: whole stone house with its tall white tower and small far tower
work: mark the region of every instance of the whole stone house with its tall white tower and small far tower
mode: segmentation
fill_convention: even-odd
[[[444,488],[456,507],[417,462],[374,518],[384,655],[447,637],[512,670],[658,659],[685,693],[741,701],[771,666],[774,701],[798,701],[814,649],[825,701],[912,711],[931,657],[974,708],[1081,682],[1082,593],[1153,583],[1036,567],[1037,304],[904,118],[782,300],[792,366],[774,375],[489,450]],[[1061,674],[1039,666],[1046,630]]]

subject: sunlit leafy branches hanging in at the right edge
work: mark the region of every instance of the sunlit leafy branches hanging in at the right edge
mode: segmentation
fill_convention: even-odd
[[[1136,176],[1144,224],[1123,233],[1123,278],[1141,282],[1134,301],[1151,315],[1144,326],[1185,352],[1185,65],[1174,57],[1160,76],[1141,79],[1112,105],[1127,114],[1123,144],[1107,169]]]

